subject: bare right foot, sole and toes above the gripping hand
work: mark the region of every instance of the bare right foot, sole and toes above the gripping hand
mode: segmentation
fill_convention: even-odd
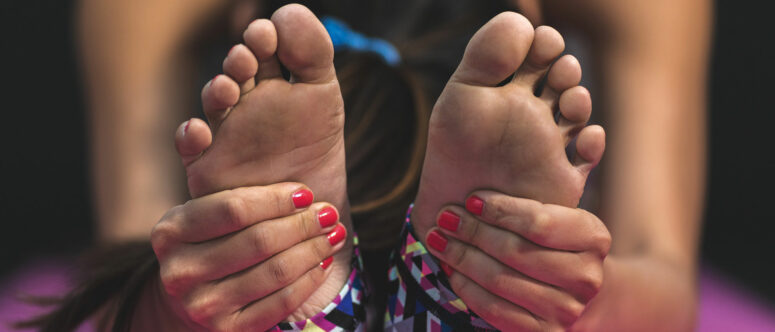
[[[555,62],[564,47],[556,30],[534,30],[511,12],[472,37],[431,115],[412,211],[421,239],[443,205],[460,204],[477,189],[578,204],[589,171],[602,157],[605,133],[599,126],[585,127],[592,110],[589,92],[578,86],[581,67],[574,57]],[[576,156],[569,161],[565,147],[576,136]]]

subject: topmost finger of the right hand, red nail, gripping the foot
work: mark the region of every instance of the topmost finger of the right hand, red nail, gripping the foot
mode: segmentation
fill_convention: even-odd
[[[603,222],[582,209],[482,190],[466,199],[466,210],[490,225],[548,248],[591,250],[605,257],[611,245],[611,235]]]

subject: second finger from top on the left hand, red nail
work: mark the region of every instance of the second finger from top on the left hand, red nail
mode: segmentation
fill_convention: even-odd
[[[197,243],[184,244],[170,255],[170,268],[195,267],[197,279],[216,280],[242,271],[276,255],[302,241],[338,231],[343,233],[336,209],[330,204],[315,203],[299,213],[263,221],[227,236]],[[341,234],[336,233],[336,236]],[[281,236],[279,236],[281,234]],[[323,257],[325,258],[325,257]]]

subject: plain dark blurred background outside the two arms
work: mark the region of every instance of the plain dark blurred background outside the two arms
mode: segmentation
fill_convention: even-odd
[[[716,1],[702,259],[775,304],[775,29],[768,4]],[[24,262],[75,255],[92,243],[72,7],[63,0],[0,2],[0,280]]]

